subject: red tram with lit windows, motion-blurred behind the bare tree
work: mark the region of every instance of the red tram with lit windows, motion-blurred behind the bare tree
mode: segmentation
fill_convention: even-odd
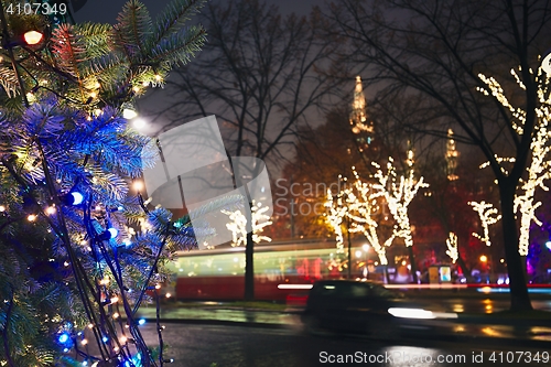
[[[352,253],[361,249],[361,244],[353,244]],[[301,284],[305,288],[318,279],[344,278],[346,257],[346,251],[337,253],[334,241],[256,245],[255,298],[281,301],[296,293]],[[174,277],[166,291],[180,300],[242,299],[244,247],[179,252],[170,269]]]

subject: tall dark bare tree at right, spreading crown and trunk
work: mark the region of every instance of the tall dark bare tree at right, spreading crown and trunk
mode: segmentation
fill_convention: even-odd
[[[367,83],[381,82],[379,99],[420,98],[401,129],[447,139],[453,126],[455,141],[477,147],[488,160],[499,188],[510,307],[531,310],[516,223],[520,199],[515,198],[538,132],[538,85],[543,77],[533,71],[549,48],[551,2],[339,0],[327,18],[334,21],[328,32],[349,41],[341,63],[364,66]],[[512,84],[510,65],[519,66],[523,85],[518,93],[509,90],[510,99],[522,106],[521,120],[498,100],[476,94],[477,87],[494,93],[480,73]],[[510,170],[505,172],[497,156],[514,158]]]

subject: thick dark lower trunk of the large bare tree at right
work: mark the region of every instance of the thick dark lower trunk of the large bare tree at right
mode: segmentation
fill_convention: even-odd
[[[511,295],[511,311],[532,310],[528,287],[526,284],[522,257],[518,251],[518,231],[515,220],[514,199],[516,185],[511,181],[499,182],[499,197],[501,201],[501,227],[504,231],[505,259],[509,273]]]

